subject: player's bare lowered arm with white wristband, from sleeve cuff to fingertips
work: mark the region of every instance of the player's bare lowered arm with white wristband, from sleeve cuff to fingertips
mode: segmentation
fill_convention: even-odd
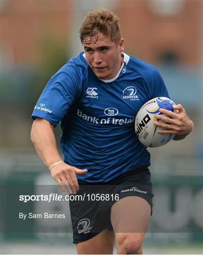
[[[38,155],[49,169],[55,163],[61,162],[51,168],[51,176],[63,192],[67,190],[70,194],[76,194],[79,190],[76,174],[85,174],[87,170],[79,170],[62,161],[57,149],[53,128],[49,121],[40,118],[35,119],[31,130],[32,142]]]

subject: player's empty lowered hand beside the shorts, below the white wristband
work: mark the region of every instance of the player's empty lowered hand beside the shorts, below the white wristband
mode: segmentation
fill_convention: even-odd
[[[51,176],[59,184],[61,190],[75,195],[79,191],[79,184],[76,174],[86,174],[87,169],[80,170],[74,166],[62,163],[51,169]]]

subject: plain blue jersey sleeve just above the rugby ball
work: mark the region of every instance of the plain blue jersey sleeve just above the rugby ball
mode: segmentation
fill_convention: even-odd
[[[151,66],[150,71],[147,75],[147,83],[149,86],[150,100],[157,97],[169,98],[166,85],[161,77],[159,71]]]

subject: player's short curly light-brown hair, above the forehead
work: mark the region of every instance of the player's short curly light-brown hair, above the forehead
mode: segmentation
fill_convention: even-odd
[[[82,44],[95,44],[98,33],[110,37],[112,42],[118,44],[121,39],[118,22],[117,15],[107,9],[88,12],[79,29],[79,37]]]

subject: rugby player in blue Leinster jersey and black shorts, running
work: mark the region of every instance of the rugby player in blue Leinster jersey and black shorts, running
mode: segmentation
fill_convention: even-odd
[[[124,53],[118,17],[98,9],[80,27],[84,47],[47,83],[32,117],[31,138],[62,191],[108,193],[119,200],[71,201],[73,243],[78,254],[142,254],[152,208],[150,154],[135,136],[141,106],[168,97],[159,72]],[[185,138],[193,122],[184,108],[160,110],[160,133]],[[62,160],[53,129],[62,128]],[[103,187],[102,185],[105,185]]]

